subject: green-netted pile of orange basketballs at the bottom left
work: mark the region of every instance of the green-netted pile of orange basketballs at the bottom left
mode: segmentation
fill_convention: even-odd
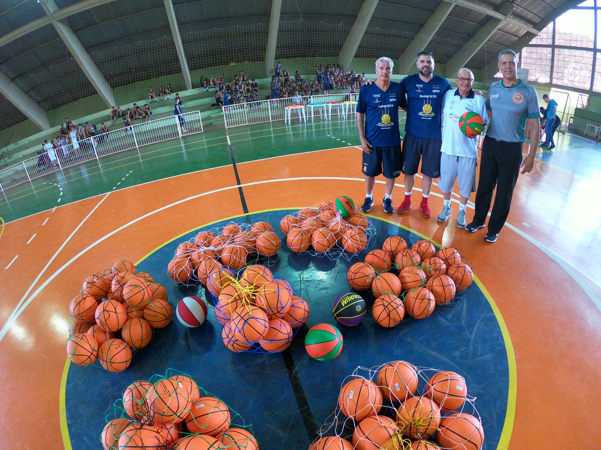
[[[105,419],[100,442],[106,449],[258,450],[251,424],[191,376],[172,368],[127,386]]]

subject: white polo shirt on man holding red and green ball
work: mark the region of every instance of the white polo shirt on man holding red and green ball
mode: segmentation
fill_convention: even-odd
[[[477,139],[469,139],[459,128],[461,116],[468,111],[479,114],[484,120],[484,125],[487,124],[486,101],[482,95],[474,95],[474,91],[471,90],[466,97],[461,98],[459,89],[446,92],[442,101],[444,125],[441,152],[463,158],[478,157]]]

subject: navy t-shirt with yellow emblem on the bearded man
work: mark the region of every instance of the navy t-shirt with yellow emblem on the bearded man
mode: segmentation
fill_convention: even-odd
[[[400,84],[401,108],[407,108],[405,131],[418,137],[442,137],[442,99],[452,89],[447,79],[435,75],[426,83],[415,74]]]

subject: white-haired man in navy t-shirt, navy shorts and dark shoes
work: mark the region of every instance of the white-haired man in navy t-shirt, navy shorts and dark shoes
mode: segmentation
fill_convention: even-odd
[[[401,133],[398,128],[398,107],[401,103],[401,86],[391,82],[394,63],[390,58],[376,61],[376,82],[363,85],[357,103],[357,129],[363,149],[362,172],[365,174],[365,202],[362,211],[374,204],[373,189],[376,176],[386,178],[384,211],[391,214],[394,180],[401,174]],[[365,119],[365,124],[364,124]]]

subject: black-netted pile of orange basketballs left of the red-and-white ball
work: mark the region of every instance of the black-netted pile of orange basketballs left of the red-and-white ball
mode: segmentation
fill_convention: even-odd
[[[109,372],[126,370],[154,329],[169,325],[173,316],[165,287],[127,260],[87,277],[69,313],[71,362]]]

